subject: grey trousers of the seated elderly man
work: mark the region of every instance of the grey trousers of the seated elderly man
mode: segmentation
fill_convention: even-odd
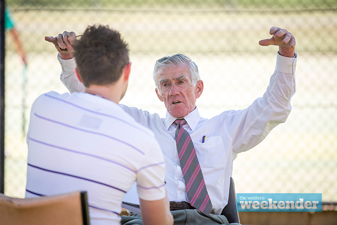
[[[197,209],[184,209],[171,211],[174,218],[174,225],[224,225],[229,224],[228,220],[223,215],[210,214],[206,216]],[[122,225],[143,225],[142,217],[122,216]],[[231,225],[240,225],[237,223]]]

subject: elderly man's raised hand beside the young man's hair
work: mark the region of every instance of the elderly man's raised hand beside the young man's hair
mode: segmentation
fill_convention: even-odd
[[[61,59],[73,58],[73,46],[75,44],[76,33],[64,31],[57,37],[44,37],[47,42],[53,43],[56,50],[60,53]],[[64,49],[67,50],[64,50]],[[63,49],[63,50],[61,50]]]

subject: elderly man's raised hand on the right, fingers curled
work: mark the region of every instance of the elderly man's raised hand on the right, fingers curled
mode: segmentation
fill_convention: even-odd
[[[295,37],[287,31],[286,29],[272,27],[270,28],[269,33],[273,35],[270,39],[264,39],[259,41],[259,45],[268,46],[268,45],[277,45],[279,49],[279,54],[285,57],[294,57],[295,56]]]

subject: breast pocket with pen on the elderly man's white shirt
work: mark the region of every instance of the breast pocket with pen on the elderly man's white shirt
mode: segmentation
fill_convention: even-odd
[[[226,152],[221,136],[212,136],[205,142],[193,141],[199,164],[202,168],[225,168]]]

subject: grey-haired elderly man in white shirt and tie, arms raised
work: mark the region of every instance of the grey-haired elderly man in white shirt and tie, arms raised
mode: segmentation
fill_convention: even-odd
[[[247,109],[202,118],[195,103],[204,83],[195,63],[181,54],[163,57],[154,67],[155,91],[167,109],[165,118],[121,105],[155,133],[162,148],[171,210],[180,209],[172,211],[175,224],[227,224],[220,214],[228,203],[233,159],[256,146],[287,119],[290,99],[295,93],[295,38],[286,29],[277,27],[272,27],[270,34],[272,38],[259,44],[279,46],[276,68],[263,97]],[[73,32],[63,32],[56,45],[69,50],[61,53],[59,61],[61,80],[70,92],[83,90],[74,75],[71,54],[74,37]],[[122,223],[141,224],[138,219],[137,215],[124,217]]]

